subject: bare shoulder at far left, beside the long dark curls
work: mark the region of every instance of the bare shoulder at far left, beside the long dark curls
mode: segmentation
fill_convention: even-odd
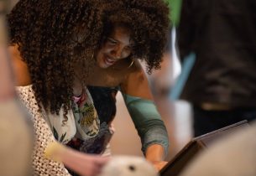
[[[28,65],[22,60],[21,54],[16,45],[8,48],[13,66],[13,74],[16,80],[16,85],[24,86],[31,85]]]

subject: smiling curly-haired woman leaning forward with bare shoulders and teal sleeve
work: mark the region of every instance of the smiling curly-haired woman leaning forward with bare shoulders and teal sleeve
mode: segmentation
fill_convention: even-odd
[[[165,3],[21,0],[8,23],[18,91],[34,110],[36,129],[83,152],[106,153],[120,90],[145,157],[156,168],[165,165],[167,132],[138,62],[149,73],[159,69],[169,30]]]

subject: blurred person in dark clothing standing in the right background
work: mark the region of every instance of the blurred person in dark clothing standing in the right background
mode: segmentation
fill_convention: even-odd
[[[180,59],[196,61],[181,99],[193,106],[194,135],[256,118],[256,2],[183,0]]]

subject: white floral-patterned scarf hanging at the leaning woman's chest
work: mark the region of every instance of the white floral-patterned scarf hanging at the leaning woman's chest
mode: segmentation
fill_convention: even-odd
[[[81,96],[74,96],[71,101],[72,109],[66,115],[67,121],[63,116],[63,108],[59,115],[44,112],[46,121],[55,136],[55,139],[62,143],[70,142],[73,137],[87,140],[97,136],[100,128],[100,120],[94,107],[90,92],[85,87]]]

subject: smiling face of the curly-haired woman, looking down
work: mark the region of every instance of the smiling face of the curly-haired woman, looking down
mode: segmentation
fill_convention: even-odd
[[[102,69],[106,69],[114,65],[118,60],[128,58],[131,53],[132,43],[128,29],[116,27],[97,52],[97,65]]]

